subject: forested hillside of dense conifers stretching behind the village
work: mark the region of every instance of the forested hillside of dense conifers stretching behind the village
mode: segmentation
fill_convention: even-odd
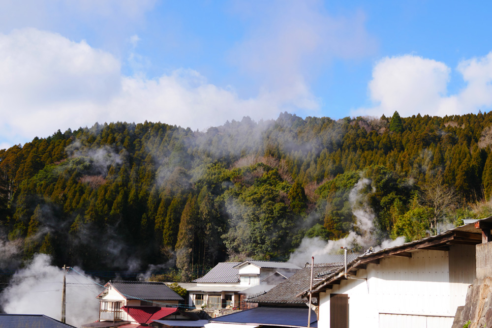
[[[305,237],[344,237],[351,192],[367,179],[357,202],[377,238],[422,238],[490,215],[491,125],[492,113],[284,113],[206,132],[151,122],[58,131],[0,150],[1,231],[24,260],[42,252],[90,270],[176,260],[189,280],[218,261],[285,258]]]

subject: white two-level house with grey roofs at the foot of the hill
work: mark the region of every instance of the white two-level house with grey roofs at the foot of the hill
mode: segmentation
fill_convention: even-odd
[[[277,284],[299,269],[298,266],[285,262],[222,262],[203,277],[193,280],[196,286],[188,289],[189,305],[208,309],[239,308],[240,292],[255,286],[267,286],[267,282]]]

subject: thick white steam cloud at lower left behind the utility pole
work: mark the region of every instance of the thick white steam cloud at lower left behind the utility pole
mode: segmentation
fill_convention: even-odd
[[[96,296],[102,287],[75,269],[81,274],[66,275],[66,323],[80,327],[98,319]],[[0,294],[0,304],[6,313],[44,314],[60,320],[62,281],[61,268],[52,266],[48,255],[36,254],[31,264],[14,274]]]

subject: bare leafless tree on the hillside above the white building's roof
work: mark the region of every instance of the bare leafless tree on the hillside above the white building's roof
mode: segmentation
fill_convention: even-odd
[[[432,210],[431,231],[437,234],[437,223],[447,213],[456,208],[456,190],[444,184],[441,176],[432,178],[422,186],[422,202]]]

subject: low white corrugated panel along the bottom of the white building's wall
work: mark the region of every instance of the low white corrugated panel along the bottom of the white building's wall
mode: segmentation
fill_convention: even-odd
[[[453,320],[454,317],[380,313],[379,328],[450,328],[453,326]]]

